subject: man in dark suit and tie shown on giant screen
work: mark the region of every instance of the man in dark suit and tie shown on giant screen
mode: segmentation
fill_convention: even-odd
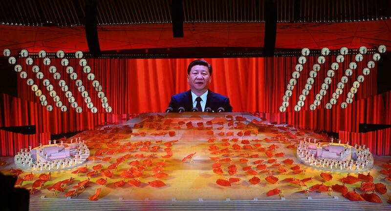
[[[211,92],[209,84],[212,82],[212,66],[202,59],[192,61],[187,68],[187,81],[190,90],[171,97],[169,108],[172,112],[179,112],[183,108],[186,112],[232,112],[229,98]],[[196,108],[196,109],[194,109]]]

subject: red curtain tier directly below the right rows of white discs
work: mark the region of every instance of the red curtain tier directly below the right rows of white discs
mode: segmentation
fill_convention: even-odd
[[[360,87],[361,88],[361,87]],[[391,125],[391,91],[353,101],[346,109],[325,108],[286,113],[261,113],[270,122],[286,123],[301,129],[358,133],[359,123]]]

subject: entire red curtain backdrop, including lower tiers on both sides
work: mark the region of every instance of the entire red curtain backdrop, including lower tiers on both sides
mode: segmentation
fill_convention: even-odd
[[[358,123],[389,124],[390,121],[390,94],[386,96],[376,95],[377,69],[371,69],[369,76],[360,84],[355,100],[348,104],[347,109],[340,107],[345,101],[348,90],[362,69],[371,59],[365,55],[362,62],[358,62],[353,75],[343,89],[343,94],[338,98],[337,104],[331,109],[324,109],[326,102],[331,98],[331,93],[336,89],[337,83],[344,75],[354,55],[345,56],[345,62],[340,63],[340,68],[335,72],[332,83],[327,90],[327,95],[321,101],[321,105],[315,112],[309,110],[314,96],[321,89],[321,84],[326,77],[327,70],[335,61],[336,55],[327,56],[326,63],[321,65],[321,70],[315,78],[315,83],[305,100],[305,105],[300,112],[294,112],[293,107],[298,101],[298,96],[304,89],[309,71],[317,57],[307,57],[304,70],[300,73],[298,84],[293,90],[286,113],[280,113],[282,96],[286,90],[291,74],[298,57],[276,58],[207,58],[213,66],[212,84],[210,89],[214,92],[228,96],[236,112],[261,112],[279,118],[282,122],[297,125],[301,128],[314,130],[358,132]],[[70,58],[69,66],[74,67],[78,78],[82,79],[83,85],[89,93],[98,113],[92,114],[87,111],[86,103],[77,90],[75,80],[71,80],[61,66],[60,59],[52,58],[51,65],[57,67],[69,90],[79,106],[82,106],[82,114],[75,112],[67,102],[65,93],[58,85],[59,80],[53,78],[48,72],[49,66],[43,65],[43,59],[34,58],[34,65],[40,67],[43,79],[49,79],[54,90],[60,96],[60,100],[67,106],[68,111],[63,113],[55,107],[55,102],[49,96],[49,92],[43,86],[43,79],[39,80],[32,72],[32,66],[27,66],[24,59],[19,58],[23,71],[27,72],[27,78],[33,78],[35,84],[47,96],[47,101],[53,105],[52,112],[40,105],[39,97],[35,96],[31,87],[26,84],[26,79],[18,77],[19,98],[2,96],[0,112],[0,126],[36,125],[37,133],[61,134],[93,129],[96,125],[104,122],[121,122],[129,118],[127,114],[144,112],[162,112],[166,109],[172,95],[189,89],[187,84],[187,66],[194,59],[89,59],[87,63],[95,79],[102,84],[103,91],[109,99],[112,113],[107,114],[101,106],[97,92],[92,87],[92,81],[87,80],[87,74],[78,64],[78,59]],[[10,66],[9,71],[14,71]],[[388,107],[387,107],[388,106]],[[266,115],[266,114],[265,114]]]

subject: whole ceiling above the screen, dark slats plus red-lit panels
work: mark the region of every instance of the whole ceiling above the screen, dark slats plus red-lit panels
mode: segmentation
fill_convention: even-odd
[[[200,52],[215,48],[221,57],[239,57],[235,52],[259,56],[264,47],[266,2],[182,0],[184,36],[174,38],[172,0],[7,0],[0,6],[0,50],[88,52],[85,14],[92,7],[102,54],[145,57],[155,49],[155,56],[164,58],[174,54],[175,48],[182,49],[181,56],[183,52],[193,55],[195,48]],[[276,52],[380,44],[391,48],[390,0],[275,2]]]

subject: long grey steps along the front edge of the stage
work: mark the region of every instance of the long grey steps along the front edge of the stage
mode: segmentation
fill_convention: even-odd
[[[30,211],[390,211],[391,206],[336,199],[251,200],[251,201],[127,201],[85,199],[30,200]]]

